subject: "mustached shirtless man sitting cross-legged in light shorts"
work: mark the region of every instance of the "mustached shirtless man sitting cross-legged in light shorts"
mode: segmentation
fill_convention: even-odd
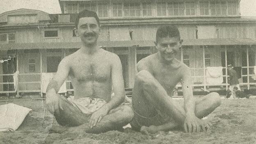
[[[98,47],[100,23],[96,13],[81,11],[75,27],[82,47],[59,63],[46,91],[47,108],[65,126],[59,127],[64,130],[87,133],[118,130],[133,119],[133,110],[120,106],[125,98],[121,61],[116,54]],[[69,100],[57,94],[68,76],[74,87],[74,97]]]

